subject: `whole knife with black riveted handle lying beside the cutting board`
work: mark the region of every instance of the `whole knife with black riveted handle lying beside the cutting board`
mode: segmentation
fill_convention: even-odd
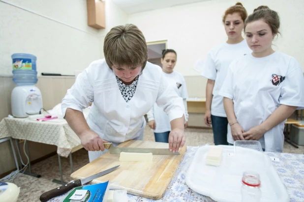
[[[83,178],[83,179],[77,179],[76,181],[72,181],[72,182],[69,182],[65,185],[62,185],[61,187],[57,187],[55,189],[52,189],[48,192],[45,192],[43,193],[41,196],[40,196],[40,201],[41,202],[47,202],[48,200],[54,198],[54,197],[57,197],[61,194],[64,194],[68,191],[70,191],[71,189],[75,188],[75,187],[79,187],[79,186],[82,186],[83,184],[95,179],[95,178],[98,178],[98,177],[101,177],[101,176],[104,176],[108,173],[111,173],[112,171],[114,171],[115,169],[117,169],[120,165],[118,166],[115,166],[113,168],[110,168],[110,169],[107,169],[105,171],[102,171],[100,173],[97,173],[95,175],[92,175],[90,177],[86,177],[86,178]]]

